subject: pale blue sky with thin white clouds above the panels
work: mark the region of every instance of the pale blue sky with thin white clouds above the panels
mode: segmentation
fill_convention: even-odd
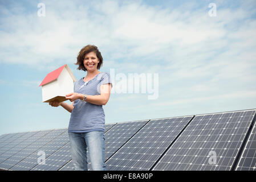
[[[64,64],[86,76],[87,44],[114,83],[105,123],[255,109],[255,32],[254,0],[0,0],[0,135],[68,127],[39,84]]]

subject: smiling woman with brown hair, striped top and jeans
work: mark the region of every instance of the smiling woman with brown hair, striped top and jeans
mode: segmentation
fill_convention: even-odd
[[[82,48],[75,64],[79,65],[79,70],[87,71],[87,75],[74,83],[74,93],[66,95],[72,104],[58,101],[49,104],[62,106],[71,113],[68,135],[75,170],[88,169],[87,148],[92,170],[105,170],[105,114],[102,105],[109,100],[112,83],[109,73],[98,71],[103,58],[96,46]]]

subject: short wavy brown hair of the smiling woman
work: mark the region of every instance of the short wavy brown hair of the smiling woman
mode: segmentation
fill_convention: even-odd
[[[82,69],[83,71],[87,71],[86,67],[84,67],[84,56],[92,51],[96,53],[97,59],[99,60],[99,63],[97,64],[97,69],[100,69],[101,65],[103,64],[103,57],[101,56],[99,49],[97,49],[97,46],[87,45],[86,47],[83,47],[78,53],[77,62],[75,63],[75,65],[78,65],[79,70]]]

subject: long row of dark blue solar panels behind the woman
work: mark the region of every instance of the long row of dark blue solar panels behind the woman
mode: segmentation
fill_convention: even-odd
[[[106,168],[256,171],[255,112],[107,124]],[[0,169],[74,170],[67,129],[1,135]]]

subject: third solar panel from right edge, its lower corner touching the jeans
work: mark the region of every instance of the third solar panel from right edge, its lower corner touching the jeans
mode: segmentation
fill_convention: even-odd
[[[106,162],[107,170],[149,170],[193,116],[152,119]]]

